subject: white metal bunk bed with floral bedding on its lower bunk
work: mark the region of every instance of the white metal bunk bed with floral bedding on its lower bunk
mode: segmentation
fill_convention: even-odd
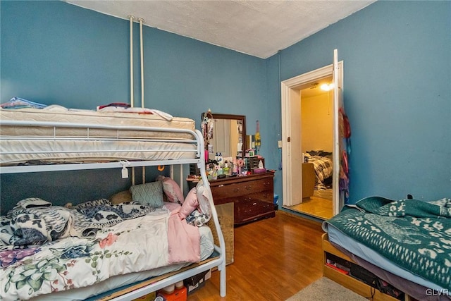
[[[135,191],[147,189],[153,183],[133,185],[132,202],[118,204],[97,199],[66,208],[37,198],[21,200],[14,208],[17,216],[35,214],[43,222],[71,221],[87,212],[96,219],[100,216],[97,220],[103,223],[80,227],[72,220],[75,226],[65,223],[63,228],[58,223],[47,224],[43,231],[33,228],[30,232],[41,231],[44,240],[29,240],[22,247],[14,240],[8,250],[2,245],[6,251],[1,252],[0,299],[134,300],[215,267],[220,271],[219,294],[224,297],[225,243],[202,154],[204,140],[199,130],[195,130],[194,121],[161,111],[99,112],[60,106],[0,109],[2,174],[119,168],[126,177],[136,166],[171,166],[173,176],[172,166],[177,165],[179,183],[183,183],[183,166],[197,164],[204,179],[196,189],[197,207],[185,206],[187,199],[183,204],[163,202],[162,206],[146,203],[140,194],[135,199]],[[103,211],[96,211],[98,206]],[[190,226],[185,216],[180,217],[183,209],[187,211],[190,207],[187,214],[201,211],[214,222],[217,245],[212,242],[211,229],[206,224]],[[48,217],[36,214],[37,209],[54,210]],[[5,226],[7,218],[1,218]],[[30,230],[26,226],[22,229]],[[194,233],[194,238],[187,237],[188,232]],[[159,235],[147,237],[149,233]],[[177,242],[184,240],[185,245],[173,245],[166,240],[169,236]],[[116,259],[121,259],[122,265]],[[102,266],[109,269],[104,271]]]

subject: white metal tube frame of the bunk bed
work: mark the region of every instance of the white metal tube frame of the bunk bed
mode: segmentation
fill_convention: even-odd
[[[76,139],[80,140],[102,140],[98,137],[89,137],[89,129],[109,129],[109,130],[117,130],[118,135],[116,137],[117,141],[124,140],[119,137],[119,132],[121,130],[140,130],[140,131],[152,131],[152,132],[172,132],[172,133],[187,133],[192,135],[194,140],[174,140],[174,139],[143,139],[143,138],[127,138],[125,139],[127,142],[133,141],[147,141],[147,142],[180,142],[187,144],[196,145],[196,149],[177,149],[172,150],[172,152],[196,152],[196,156],[193,159],[174,159],[174,160],[154,160],[154,161],[127,161],[126,167],[134,167],[134,166],[160,166],[160,165],[171,165],[171,173],[173,165],[180,165],[180,183],[183,183],[183,164],[197,164],[199,166],[199,170],[203,179],[204,186],[206,190],[211,195],[211,189],[209,185],[209,181],[206,177],[205,171],[205,159],[204,159],[204,138],[202,133],[199,130],[185,130],[178,128],[153,128],[153,127],[137,127],[137,126],[113,126],[113,125],[91,125],[91,124],[73,124],[73,123],[48,123],[48,122],[39,122],[39,121],[5,121],[0,120],[1,126],[33,126],[33,127],[51,127],[54,128],[54,136],[53,137],[20,137],[20,139],[32,139],[32,140],[67,140],[73,138],[70,137],[57,137],[56,132],[58,128],[86,128],[87,136],[86,137],[77,137]],[[0,142],[6,143],[11,140],[17,140],[17,136],[0,136]],[[111,141],[112,138],[107,138],[105,140]],[[169,150],[169,149],[168,149]],[[150,150],[152,151],[152,150]],[[165,149],[159,149],[159,152],[164,152]],[[52,151],[38,151],[39,153],[51,153]],[[70,151],[67,151],[70,152]],[[77,153],[80,151],[76,151]],[[84,152],[99,152],[99,154],[104,154],[104,150],[96,151],[93,149],[89,149]],[[117,152],[116,150],[114,152]],[[24,153],[24,152],[16,152]],[[32,154],[33,152],[28,152]],[[0,153],[1,155],[2,153]],[[3,153],[5,154],[5,153]],[[49,164],[49,165],[23,165],[23,166],[1,166],[1,173],[30,173],[30,172],[41,172],[41,171],[73,171],[73,170],[84,170],[84,169],[103,169],[103,168],[124,168],[124,161],[115,161],[115,162],[101,162],[101,163],[68,163],[68,164]],[[207,271],[214,267],[218,267],[218,271],[220,271],[220,295],[221,297],[226,296],[226,247],[225,241],[223,238],[223,233],[221,231],[221,226],[218,220],[218,214],[216,213],[216,208],[214,207],[213,199],[209,200],[211,207],[211,217],[214,221],[214,225],[216,228],[216,233],[218,235],[219,245],[215,245],[214,249],[219,253],[219,256],[215,259],[211,259],[208,262],[200,264],[198,266],[194,266],[190,269],[183,270],[178,272],[177,274],[173,274],[168,276],[167,278],[163,278],[155,283],[151,283],[142,288],[138,288],[137,290],[132,290],[128,293],[124,293],[118,297],[113,297],[111,300],[133,300],[137,297],[141,297],[143,295],[147,295],[148,293],[152,293],[156,290],[164,288],[168,285],[176,283],[178,281],[183,281],[186,278],[191,276],[195,276],[203,271]]]

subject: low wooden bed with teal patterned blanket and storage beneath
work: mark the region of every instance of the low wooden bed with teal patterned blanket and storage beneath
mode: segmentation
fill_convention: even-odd
[[[366,197],[323,222],[323,275],[373,300],[451,300],[451,199]]]

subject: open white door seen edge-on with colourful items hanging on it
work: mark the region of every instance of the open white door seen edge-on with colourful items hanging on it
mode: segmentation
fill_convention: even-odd
[[[349,169],[347,142],[350,129],[345,129],[343,106],[343,68],[338,63],[338,50],[333,51],[333,214],[338,214],[347,198]],[[349,124],[348,124],[349,125]],[[347,126],[348,126],[347,125]],[[349,130],[349,133],[347,131]]]

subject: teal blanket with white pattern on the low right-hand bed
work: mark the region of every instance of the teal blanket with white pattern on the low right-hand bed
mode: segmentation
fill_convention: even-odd
[[[451,290],[451,199],[366,197],[323,223],[413,274]]]

